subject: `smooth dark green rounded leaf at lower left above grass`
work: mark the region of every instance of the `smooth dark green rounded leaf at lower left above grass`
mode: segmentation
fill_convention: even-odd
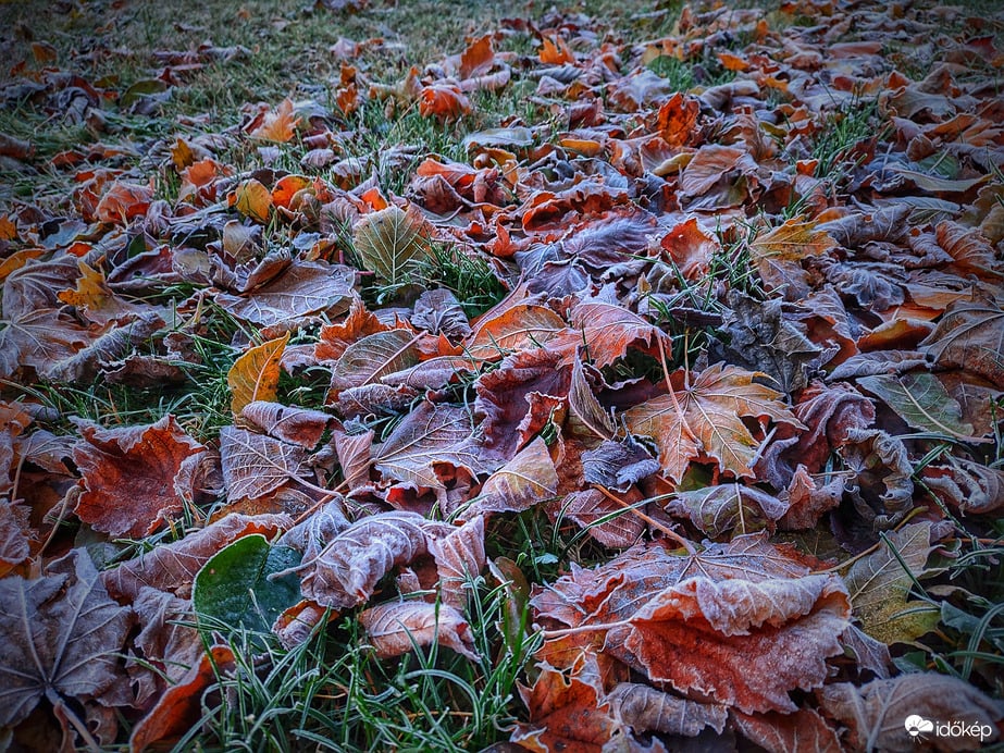
[[[275,618],[300,600],[295,575],[269,580],[300,563],[287,546],[270,546],[260,534],[243,536],[220,550],[195,577],[191,602],[200,621],[219,620],[268,632]]]

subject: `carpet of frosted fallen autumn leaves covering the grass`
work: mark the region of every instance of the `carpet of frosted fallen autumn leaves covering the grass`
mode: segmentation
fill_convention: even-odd
[[[327,107],[83,146],[53,160],[72,195],[8,201],[4,740],[211,748],[228,714],[343,749],[409,721],[498,751],[1000,738],[1000,16],[596,24],[507,18],[394,84],[345,40]],[[4,97],[115,107],[36,52]],[[453,158],[346,156],[364,111],[458,133],[512,87],[529,114]],[[240,689],[303,646],[338,671],[253,726]],[[436,672],[418,719],[381,694]]]

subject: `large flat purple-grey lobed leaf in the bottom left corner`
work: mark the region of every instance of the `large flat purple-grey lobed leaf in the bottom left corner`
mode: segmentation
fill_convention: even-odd
[[[108,596],[86,552],[73,550],[34,580],[0,581],[0,727],[24,720],[45,696],[84,701],[119,676],[131,610]]]

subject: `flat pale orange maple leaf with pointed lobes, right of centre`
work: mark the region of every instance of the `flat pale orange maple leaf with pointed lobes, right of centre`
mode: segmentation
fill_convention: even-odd
[[[689,387],[675,387],[627,411],[628,428],[652,436],[659,447],[666,476],[683,478],[691,460],[703,453],[736,478],[754,478],[752,465],[760,442],[743,417],[769,418],[803,428],[778,398],[781,393],[757,384],[756,371],[718,363],[705,369]],[[675,375],[674,375],[675,376]]]

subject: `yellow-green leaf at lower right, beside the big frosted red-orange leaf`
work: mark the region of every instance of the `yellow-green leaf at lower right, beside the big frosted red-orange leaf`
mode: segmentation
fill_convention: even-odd
[[[889,534],[878,551],[854,563],[847,573],[854,616],[872,638],[883,643],[908,642],[938,625],[941,613],[937,606],[908,601],[914,580],[924,575],[933,548],[930,538],[930,522],[905,526]]]

